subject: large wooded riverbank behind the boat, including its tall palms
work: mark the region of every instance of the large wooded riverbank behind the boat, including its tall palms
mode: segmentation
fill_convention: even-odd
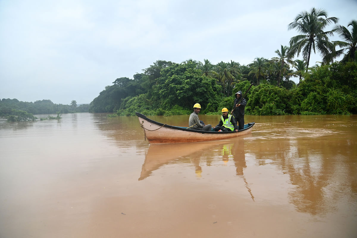
[[[281,45],[277,57],[257,57],[251,64],[220,62],[212,64],[187,60],[182,63],[157,60],[132,79],[117,78],[91,103],[89,112],[115,115],[189,114],[194,103],[201,112],[220,113],[232,107],[234,94],[247,94],[246,113],[252,115],[351,114],[356,113],[357,21],[337,25],[338,18],[327,17],[323,9],[312,8],[296,16],[288,29],[300,35],[289,46]],[[336,24],[326,31],[330,24]],[[341,40],[330,42],[337,33]],[[321,54],[320,65],[309,67],[311,53]],[[295,56],[302,54],[302,59]],[[343,56],[341,62],[335,62]],[[298,77],[296,85],[291,79]]]

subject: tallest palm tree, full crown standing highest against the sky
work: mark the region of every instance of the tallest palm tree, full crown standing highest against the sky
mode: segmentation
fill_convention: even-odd
[[[288,29],[297,29],[302,33],[290,39],[290,57],[292,58],[300,52],[303,54],[304,60],[307,62],[307,68],[310,63],[311,50],[322,55],[331,52],[333,44],[329,41],[328,35],[333,35],[333,31],[323,31],[326,26],[331,23],[337,23],[338,18],[327,18],[327,12],[323,9],[312,8],[310,12],[303,11],[296,16],[294,21],[288,25]]]

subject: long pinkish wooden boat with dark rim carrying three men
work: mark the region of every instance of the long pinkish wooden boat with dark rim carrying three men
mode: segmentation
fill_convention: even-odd
[[[182,142],[198,142],[223,140],[242,135],[247,135],[252,132],[255,122],[250,122],[244,125],[243,130],[216,132],[216,131],[199,131],[191,128],[180,126],[170,126],[162,124],[147,118],[139,112],[136,112],[139,118],[140,126],[144,130],[145,138],[150,144],[166,144],[166,143],[182,143]]]

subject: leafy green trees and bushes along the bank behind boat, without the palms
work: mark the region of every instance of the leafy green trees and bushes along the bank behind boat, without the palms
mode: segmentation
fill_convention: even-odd
[[[160,63],[162,62],[156,62],[156,65]],[[266,63],[271,64],[268,61]],[[135,111],[146,115],[185,115],[190,114],[195,102],[199,102],[202,113],[219,114],[223,107],[232,109],[235,92],[240,90],[244,93],[253,82],[255,85],[246,96],[246,113],[250,115],[357,112],[356,62],[332,63],[311,68],[307,73],[301,72],[302,79],[298,85],[290,79],[289,74],[293,73],[296,72],[287,71],[278,87],[274,85],[277,83],[276,78],[269,73],[261,78],[258,85],[256,79],[249,78],[247,74],[240,74],[240,77],[246,78],[239,82],[234,82],[234,79],[232,82],[218,81],[213,77],[202,76],[196,62],[172,63],[160,70],[160,77],[153,80],[152,90],[145,92],[144,86],[150,83],[150,76],[146,74],[137,74],[134,80],[119,78],[113,86],[107,87],[94,99],[90,110],[115,111],[114,115],[121,116],[134,115]],[[121,91],[144,93],[123,97]],[[109,101],[112,103],[108,103]]]

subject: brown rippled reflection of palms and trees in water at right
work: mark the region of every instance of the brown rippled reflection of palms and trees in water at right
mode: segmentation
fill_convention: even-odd
[[[351,160],[357,157],[356,150],[351,150],[348,140],[331,134],[295,139],[279,136],[263,140],[255,148],[259,166],[271,163],[289,175],[293,185],[289,202],[300,212],[324,216],[336,211],[344,197],[356,197],[356,167]]]

